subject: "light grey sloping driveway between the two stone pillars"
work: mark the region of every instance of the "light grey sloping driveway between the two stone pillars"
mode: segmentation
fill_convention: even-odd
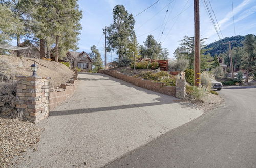
[[[78,88],[39,123],[38,150],[20,167],[99,167],[202,114],[190,104],[110,76],[78,75]]]

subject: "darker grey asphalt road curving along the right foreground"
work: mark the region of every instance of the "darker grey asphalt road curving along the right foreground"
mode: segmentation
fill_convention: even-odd
[[[256,167],[256,87],[225,87],[216,110],[105,167]]]

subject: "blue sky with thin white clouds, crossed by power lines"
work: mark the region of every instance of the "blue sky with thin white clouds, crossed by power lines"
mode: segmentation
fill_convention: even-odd
[[[123,4],[126,10],[135,16],[155,2],[156,0],[80,0],[78,3],[83,11],[83,18],[80,21],[82,31],[78,51],[90,52],[90,46],[99,43],[97,47],[102,56],[104,55],[104,37],[101,38],[102,28],[113,23],[112,9],[115,5]],[[171,3],[166,14],[169,2]],[[200,0],[200,32],[203,38],[209,38],[206,41],[206,44],[208,44],[219,40],[219,38],[202,2],[203,0]],[[162,42],[164,48],[169,50],[170,57],[172,57],[174,50],[179,45],[179,40],[184,35],[194,35],[193,3],[193,0],[160,0],[153,7],[135,17],[135,33],[138,42],[143,44],[147,35],[152,34],[155,39],[158,39],[158,42]],[[210,0],[210,3],[224,38],[234,36],[232,1]],[[256,34],[256,1],[233,0],[233,8],[236,35]],[[161,9],[163,10],[161,11]],[[183,13],[181,13],[182,9],[185,10],[183,10]],[[180,15],[175,17],[178,14]],[[159,34],[163,29],[164,31],[160,38]],[[99,42],[100,38],[101,41]],[[110,61],[111,56],[108,53],[108,62]]]

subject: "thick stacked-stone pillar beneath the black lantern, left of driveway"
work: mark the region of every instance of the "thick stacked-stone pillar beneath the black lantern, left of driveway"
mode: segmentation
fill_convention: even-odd
[[[17,77],[16,108],[35,124],[49,116],[49,82],[49,77]]]

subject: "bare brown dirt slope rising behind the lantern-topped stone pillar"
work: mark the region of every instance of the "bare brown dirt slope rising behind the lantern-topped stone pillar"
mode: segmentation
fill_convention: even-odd
[[[39,67],[37,75],[41,77],[51,77],[51,88],[58,87],[62,83],[66,83],[74,75],[74,72],[67,66],[54,61],[0,55],[0,61],[2,60],[6,60],[10,65],[12,65],[11,68],[14,70],[12,72],[15,73],[15,76],[31,76],[32,71],[30,66],[35,61],[36,65]]]

